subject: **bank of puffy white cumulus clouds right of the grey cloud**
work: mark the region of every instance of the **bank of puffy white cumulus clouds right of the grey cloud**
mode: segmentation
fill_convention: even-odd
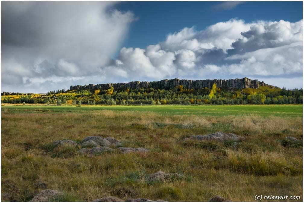
[[[147,49],[123,48],[119,60],[121,68],[151,79],[302,75],[302,20],[231,19],[201,31],[184,28]]]

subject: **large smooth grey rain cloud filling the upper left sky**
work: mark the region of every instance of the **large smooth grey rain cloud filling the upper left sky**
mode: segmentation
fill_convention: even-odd
[[[104,73],[101,67],[109,64],[135,19],[130,11],[111,10],[112,5],[3,2],[2,84],[9,75],[34,80]]]

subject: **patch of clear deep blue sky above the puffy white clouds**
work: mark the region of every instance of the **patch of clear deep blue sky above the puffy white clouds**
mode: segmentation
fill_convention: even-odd
[[[168,33],[195,26],[202,30],[217,22],[243,19],[297,22],[302,19],[302,2],[244,2],[232,9],[216,9],[221,2],[121,2],[114,8],[132,11],[132,22],[122,47],[139,47],[164,41]],[[116,54],[118,54],[117,52]]]

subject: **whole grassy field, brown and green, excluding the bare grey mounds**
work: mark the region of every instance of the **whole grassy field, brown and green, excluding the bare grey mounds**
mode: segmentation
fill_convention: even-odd
[[[302,201],[302,146],[282,142],[302,139],[302,130],[302,105],[2,106],[2,201],[31,200],[42,190],[36,183],[62,192],[59,201],[209,201],[214,195]],[[184,141],[217,131],[242,139]],[[77,154],[79,147],[52,146],[92,135],[150,152],[93,156]],[[157,171],[181,176],[147,181]]]

